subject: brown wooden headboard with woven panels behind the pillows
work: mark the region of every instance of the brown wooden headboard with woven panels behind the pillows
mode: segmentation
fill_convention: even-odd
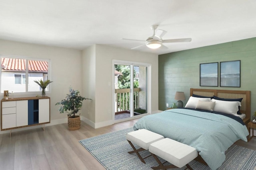
[[[212,97],[217,96],[226,99],[238,99],[243,98],[240,107],[240,112],[246,114],[244,123],[247,125],[250,122],[251,117],[251,93],[250,91],[239,91],[239,90],[218,90],[218,89],[190,89],[190,96],[200,95]]]

